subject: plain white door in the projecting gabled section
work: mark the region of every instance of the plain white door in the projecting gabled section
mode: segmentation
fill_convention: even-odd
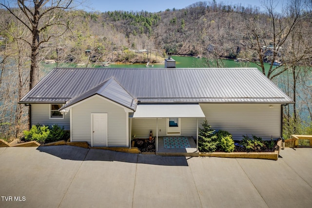
[[[107,147],[107,113],[91,113],[91,146]]]

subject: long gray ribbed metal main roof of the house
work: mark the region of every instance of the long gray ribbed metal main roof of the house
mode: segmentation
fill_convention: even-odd
[[[79,96],[98,93],[112,77],[102,96],[125,106],[130,105],[126,101],[130,96],[142,103],[292,102],[256,68],[56,68],[20,103],[73,102]],[[124,91],[116,94],[117,88]]]

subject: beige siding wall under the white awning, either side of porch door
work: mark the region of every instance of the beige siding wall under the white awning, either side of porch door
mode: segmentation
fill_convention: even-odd
[[[198,120],[198,123],[200,121]],[[196,138],[196,118],[181,118],[181,136]],[[137,138],[148,138],[150,131],[156,136],[156,118],[133,118],[132,134]],[[166,118],[158,118],[158,136],[166,136]]]

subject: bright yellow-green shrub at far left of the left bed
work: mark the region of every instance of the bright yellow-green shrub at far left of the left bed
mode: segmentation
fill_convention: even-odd
[[[43,144],[50,133],[48,126],[42,126],[40,124],[33,125],[29,131],[24,131],[26,142],[37,141]]]

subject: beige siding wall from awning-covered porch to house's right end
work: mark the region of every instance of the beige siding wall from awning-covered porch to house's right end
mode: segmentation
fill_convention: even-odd
[[[240,140],[246,134],[262,139],[280,138],[280,104],[203,103],[200,107],[215,130],[228,131],[234,139]],[[198,127],[203,120],[198,118]],[[150,130],[156,136],[155,118],[132,119],[132,134],[137,138],[148,138]],[[166,136],[166,118],[158,118],[158,136]],[[196,137],[196,118],[181,118],[181,136]]]

